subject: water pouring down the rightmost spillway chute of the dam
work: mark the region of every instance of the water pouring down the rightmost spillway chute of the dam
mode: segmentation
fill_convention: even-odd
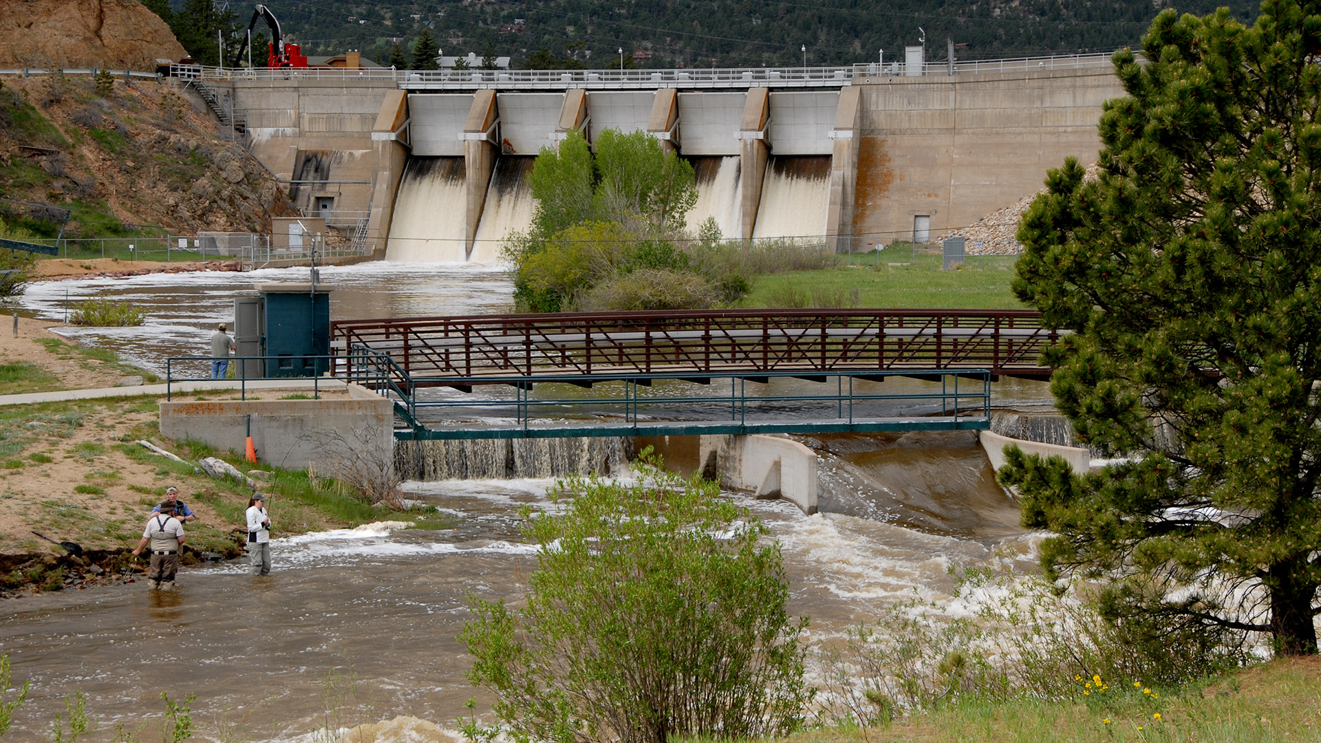
[[[830,159],[771,157],[753,238],[820,237],[830,213]]]

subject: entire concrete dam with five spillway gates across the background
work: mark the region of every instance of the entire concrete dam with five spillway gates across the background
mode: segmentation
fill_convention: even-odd
[[[914,74],[915,73],[915,74]],[[535,155],[646,131],[688,159],[690,229],[838,251],[926,241],[1091,163],[1106,56],[797,70],[221,70],[203,75],[308,215],[376,258],[491,263],[524,230]],[[214,79],[213,79],[214,78]]]

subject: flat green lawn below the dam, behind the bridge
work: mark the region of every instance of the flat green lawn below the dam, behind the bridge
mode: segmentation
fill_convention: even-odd
[[[968,256],[945,271],[938,253],[839,256],[812,271],[760,274],[738,305],[1024,309],[1009,292],[1015,255]]]

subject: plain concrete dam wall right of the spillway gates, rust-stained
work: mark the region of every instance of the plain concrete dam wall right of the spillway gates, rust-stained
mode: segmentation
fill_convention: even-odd
[[[1096,161],[1096,122],[1124,94],[1112,69],[871,77],[861,90],[853,234],[863,243],[931,237],[1042,188],[1046,169]],[[859,249],[863,246],[859,245]]]

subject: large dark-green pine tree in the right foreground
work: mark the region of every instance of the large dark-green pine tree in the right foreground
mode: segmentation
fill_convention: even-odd
[[[1100,173],[1052,171],[1015,292],[1050,328],[1052,391],[1087,444],[1073,476],[1012,452],[1001,481],[1055,531],[1052,572],[1153,637],[1266,632],[1317,652],[1321,613],[1321,1],[1252,28],[1173,9],[1115,54]]]

